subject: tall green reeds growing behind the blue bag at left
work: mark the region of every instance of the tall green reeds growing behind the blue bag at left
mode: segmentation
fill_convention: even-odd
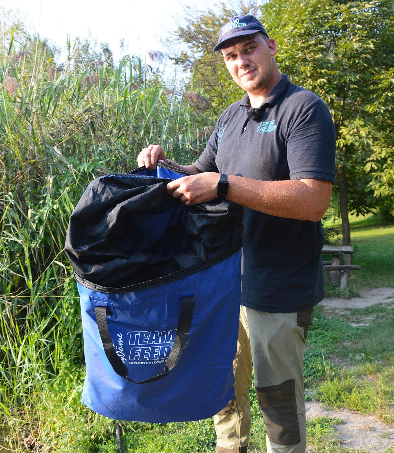
[[[80,194],[102,173],[136,167],[149,143],[190,162],[208,129],[207,115],[157,77],[144,80],[130,58],[55,71],[39,59],[29,69],[11,53],[0,83],[0,409],[19,451],[27,433],[42,434],[43,389],[83,361],[63,252]]]

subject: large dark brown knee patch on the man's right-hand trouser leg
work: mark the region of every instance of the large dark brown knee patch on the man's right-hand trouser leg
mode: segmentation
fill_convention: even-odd
[[[279,445],[300,443],[295,380],[288,379],[277,386],[256,387],[256,395],[268,439]]]

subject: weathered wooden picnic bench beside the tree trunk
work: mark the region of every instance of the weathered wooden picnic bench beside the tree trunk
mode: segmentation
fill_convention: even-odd
[[[360,266],[340,264],[340,257],[344,254],[353,254],[354,248],[350,246],[324,246],[321,253],[330,253],[331,261],[323,260],[324,281],[340,283],[340,289],[345,289],[350,270],[359,270]]]

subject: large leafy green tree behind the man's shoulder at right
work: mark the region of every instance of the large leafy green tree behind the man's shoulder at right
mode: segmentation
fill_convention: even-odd
[[[262,22],[281,72],[326,101],[334,117],[343,244],[348,211],[394,193],[393,0],[271,0]]]

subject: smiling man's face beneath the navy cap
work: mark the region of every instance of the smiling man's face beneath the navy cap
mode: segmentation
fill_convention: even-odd
[[[222,47],[224,63],[231,77],[243,90],[258,93],[272,78],[276,44],[262,33],[240,36]]]

